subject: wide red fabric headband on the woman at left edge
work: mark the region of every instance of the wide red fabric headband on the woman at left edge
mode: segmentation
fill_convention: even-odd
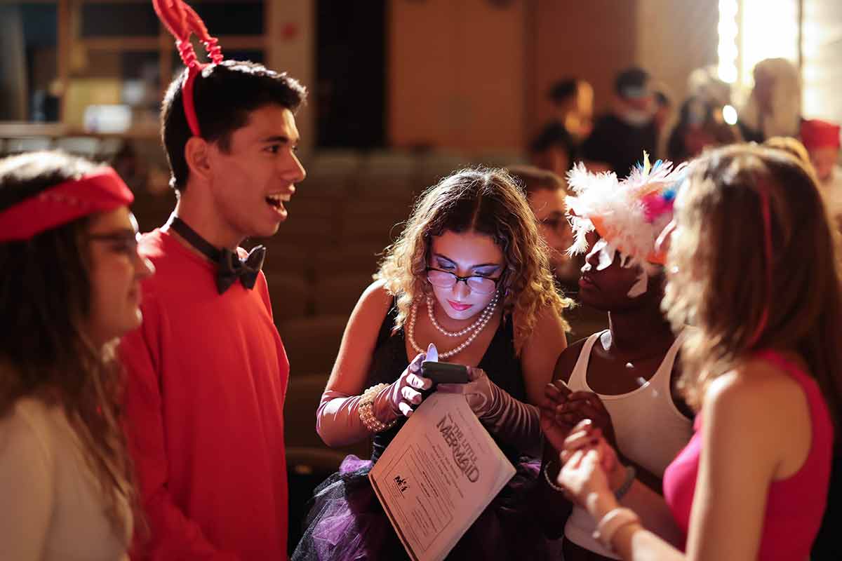
[[[0,212],[0,242],[29,240],[88,214],[131,204],[135,196],[105,167],[81,179],[59,183]]]

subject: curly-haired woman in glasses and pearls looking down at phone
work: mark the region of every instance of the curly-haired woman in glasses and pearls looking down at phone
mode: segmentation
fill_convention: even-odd
[[[349,456],[317,489],[294,559],[406,557],[366,476],[432,387],[420,371],[429,353],[474,367],[462,391],[518,466],[450,558],[546,553],[537,525],[519,513],[540,466],[520,461],[541,450],[532,404],[567,346],[570,302],[547,255],[524,194],[502,170],[461,170],[421,195],[351,314],[317,412],[328,446],[372,438],[371,460]]]

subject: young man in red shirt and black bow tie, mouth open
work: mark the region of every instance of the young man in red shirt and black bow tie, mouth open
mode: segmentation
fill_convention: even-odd
[[[264,250],[239,245],[274,235],[305,177],[295,112],[306,92],[250,62],[191,72],[163,102],[178,203],[142,236],[158,274],[143,284],[143,324],[120,349],[149,530],[135,558],[284,559],[289,363],[259,270]]]

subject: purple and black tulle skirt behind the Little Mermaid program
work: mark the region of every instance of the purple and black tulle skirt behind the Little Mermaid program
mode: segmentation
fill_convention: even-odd
[[[541,463],[521,460],[515,464],[514,477],[448,559],[561,559],[561,541],[547,539],[539,521],[540,497],[534,490]],[[338,473],[317,487],[292,561],[408,559],[369,483],[372,465],[370,460],[348,456]]]

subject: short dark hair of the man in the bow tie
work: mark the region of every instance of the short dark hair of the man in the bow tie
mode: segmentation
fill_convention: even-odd
[[[161,108],[161,139],[172,171],[170,187],[184,191],[189,167],[184,146],[193,136],[184,116],[182,72],[170,83]],[[193,103],[202,138],[229,149],[232,133],[248,124],[248,114],[265,105],[280,105],[296,112],[306,89],[286,72],[278,73],[248,61],[222,61],[201,71],[193,87]]]

